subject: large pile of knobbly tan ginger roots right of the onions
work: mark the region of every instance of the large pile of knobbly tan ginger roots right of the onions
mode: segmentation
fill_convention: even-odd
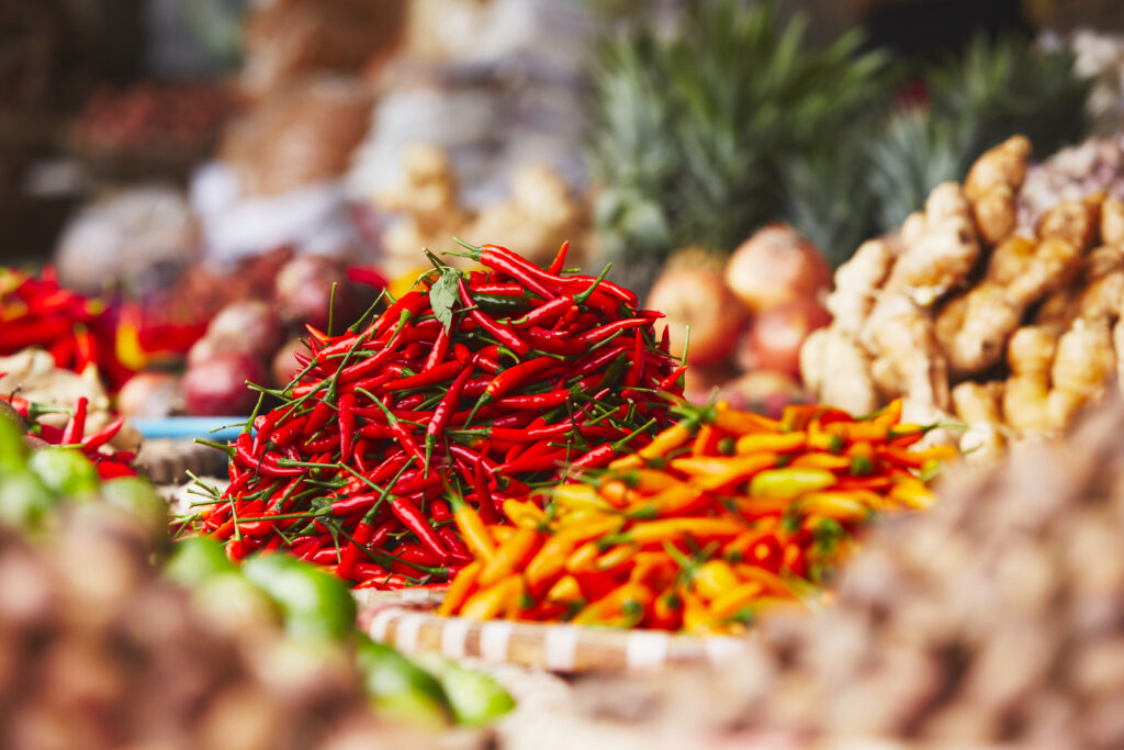
[[[835,273],[835,316],[800,369],[822,403],[855,414],[903,397],[906,421],[962,423],[977,459],[1064,430],[1124,365],[1124,201],[1061,202],[1033,236],[1016,229],[1031,144],[984,154],[963,186],[863,243]]]

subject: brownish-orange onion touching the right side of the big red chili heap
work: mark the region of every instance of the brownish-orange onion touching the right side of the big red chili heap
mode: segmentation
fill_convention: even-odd
[[[690,327],[687,361],[691,364],[727,360],[745,322],[745,310],[722,274],[705,268],[663,273],[652,287],[647,307],[668,316],[672,356],[681,355]]]

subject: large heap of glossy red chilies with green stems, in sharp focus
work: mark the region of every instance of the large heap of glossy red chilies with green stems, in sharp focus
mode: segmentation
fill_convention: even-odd
[[[489,523],[509,497],[599,468],[674,421],[682,368],[659,313],[598,277],[495,245],[442,265],[370,325],[310,329],[282,405],[227,450],[197,521],[232,559],[285,549],[359,586],[445,580],[472,561],[451,503]]]

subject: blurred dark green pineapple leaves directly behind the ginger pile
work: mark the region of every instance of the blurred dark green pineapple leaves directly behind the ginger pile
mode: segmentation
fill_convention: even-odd
[[[1050,153],[1085,130],[1089,82],[1072,55],[1028,39],[977,37],[925,74],[924,107],[880,114],[840,134],[834,153],[786,166],[787,218],[835,263],[919,209],[941,182],[962,180],[985,151],[1016,133]]]

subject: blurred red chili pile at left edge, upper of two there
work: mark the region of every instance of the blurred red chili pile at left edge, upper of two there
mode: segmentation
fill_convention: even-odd
[[[106,306],[58,286],[53,268],[39,278],[0,268],[0,355],[38,346],[67,370],[96,364],[116,390],[133,374],[117,358],[116,336]]]

